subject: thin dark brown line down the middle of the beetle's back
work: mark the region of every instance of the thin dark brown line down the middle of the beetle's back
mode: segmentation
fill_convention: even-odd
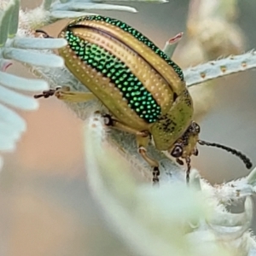
[[[116,40],[117,42],[119,42],[120,44],[124,44],[125,47],[127,47],[128,49],[130,49],[130,50],[131,50],[132,52],[134,52],[136,55],[140,56],[140,57],[143,59],[143,61],[145,61],[145,62],[148,64],[148,66],[149,66],[151,69],[154,70],[155,73],[160,74],[160,73],[156,70],[156,68],[155,68],[150,62],[148,62],[148,61],[144,58],[143,55],[141,55],[140,53],[138,53],[137,51],[135,51],[134,49],[132,49],[129,45],[125,44],[124,41],[120,40],[119,38],[114,37],[114,35],[112,35],[112,34],[106,32],[106,31],[103,31],[102,29],[99,29],[99,28],[96,28],[96,27],[91,27],[91,26],[86,26],[86,25],[75,24],[75,25],[72,26],[72,28],[86,28],[86,29],[88,29],[88,30],[90,30],[90,31],[94,31],[94,32],[96,32],[96,33],[100,33],[100,34],[104,35],[105,37],[107,36],[108,38],[114,39],[114,40]],[[163,76],[161,76],[161,79],[163,79],[163,80],[166,82],[166,84],[169,84],[168,81],[166,81],[166,79],[165,79]],[[169,88],[172,90],[172,84],[169,84]]]

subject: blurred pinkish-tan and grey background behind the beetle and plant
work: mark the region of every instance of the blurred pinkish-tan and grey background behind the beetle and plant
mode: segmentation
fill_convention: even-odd
[[[173,60],[180,67],[189,67],[255,48],[256,2],[243,0],[237,6],[235,2],[225,1],[224,13],[220,11],[217,17],[212,16],[211,6],[199,10],[196,4],[200,1],[189,0],[131,3],[137,14],[97,13],[126,21],[160,48],[168,38],[184,32]],[[41,1],[21,3],[23,9],[31,9]],[[224,42],[218,41],[221,39]],[[8,72],[31,76],[19,64]],[[193,91],[201,139],[237,148],[254,164],[255,79],[255,71],[248,71]],[[0,255],[132,255],[107,229],[91,199],[83,165],[83,122],[55,98],[41,100],[37,112],[20,114],[28,129],[15,154],[4,155],[0,178]],[[193,166],[212,184],[249,172],[231,154],[217,148],[199,149],[200,156],[193,159]],[[256,230],[255,224],[253,227]]]

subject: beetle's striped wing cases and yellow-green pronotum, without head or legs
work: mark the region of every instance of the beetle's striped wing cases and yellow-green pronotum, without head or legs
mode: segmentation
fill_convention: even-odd
[[[191,123],[182,70],[148,38],[120,20],[84,16],[60,34],[66,66],[116,119],[149,131],[168,150]]]

